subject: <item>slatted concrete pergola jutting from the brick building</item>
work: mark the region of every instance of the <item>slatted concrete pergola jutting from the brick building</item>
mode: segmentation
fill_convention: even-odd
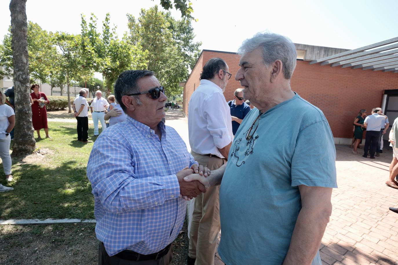
[[[398,37],[310,62],[317,63],[398,73]]]

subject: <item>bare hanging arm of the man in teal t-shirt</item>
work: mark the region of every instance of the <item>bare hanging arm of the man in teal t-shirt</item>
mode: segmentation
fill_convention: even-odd
[[[312,263],[332,214],[332,188],[300,185],[298,189],[302,208],[283,265]]]

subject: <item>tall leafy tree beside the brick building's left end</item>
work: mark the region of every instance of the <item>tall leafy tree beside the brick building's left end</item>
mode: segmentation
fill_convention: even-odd
[[[189,76],[188,68],[193,68],[201,45],[193,41],[191,22],[175,20],[157,6],[142,9],[138,19],[130,14],[127,18],[129,41],[148,51],[146,69],[156,73],[168,96],[181,95],[179,83]]]

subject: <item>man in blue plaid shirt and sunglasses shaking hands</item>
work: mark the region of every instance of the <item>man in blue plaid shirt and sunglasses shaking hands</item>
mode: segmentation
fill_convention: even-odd
[[[206,191],[183,178],[210,171],[198,166],[178,133],[161,121],[166,96],[153,72],[123,72],[115,96],[127,120],[101,133],[87,165],[98,264],[166,265],[183,226],[185,199]]]

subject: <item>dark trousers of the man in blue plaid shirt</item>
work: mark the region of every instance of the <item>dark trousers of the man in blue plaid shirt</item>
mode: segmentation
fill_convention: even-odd
[[[160,259],[150,259],[144,261],[131,261],[121,259],[116,256],[109,257],[102,242],[100,242],[100,247],[98,248],[98,265],[168,265],[172,261],[172,257],[173,244],[170,247],[169,252]]]

